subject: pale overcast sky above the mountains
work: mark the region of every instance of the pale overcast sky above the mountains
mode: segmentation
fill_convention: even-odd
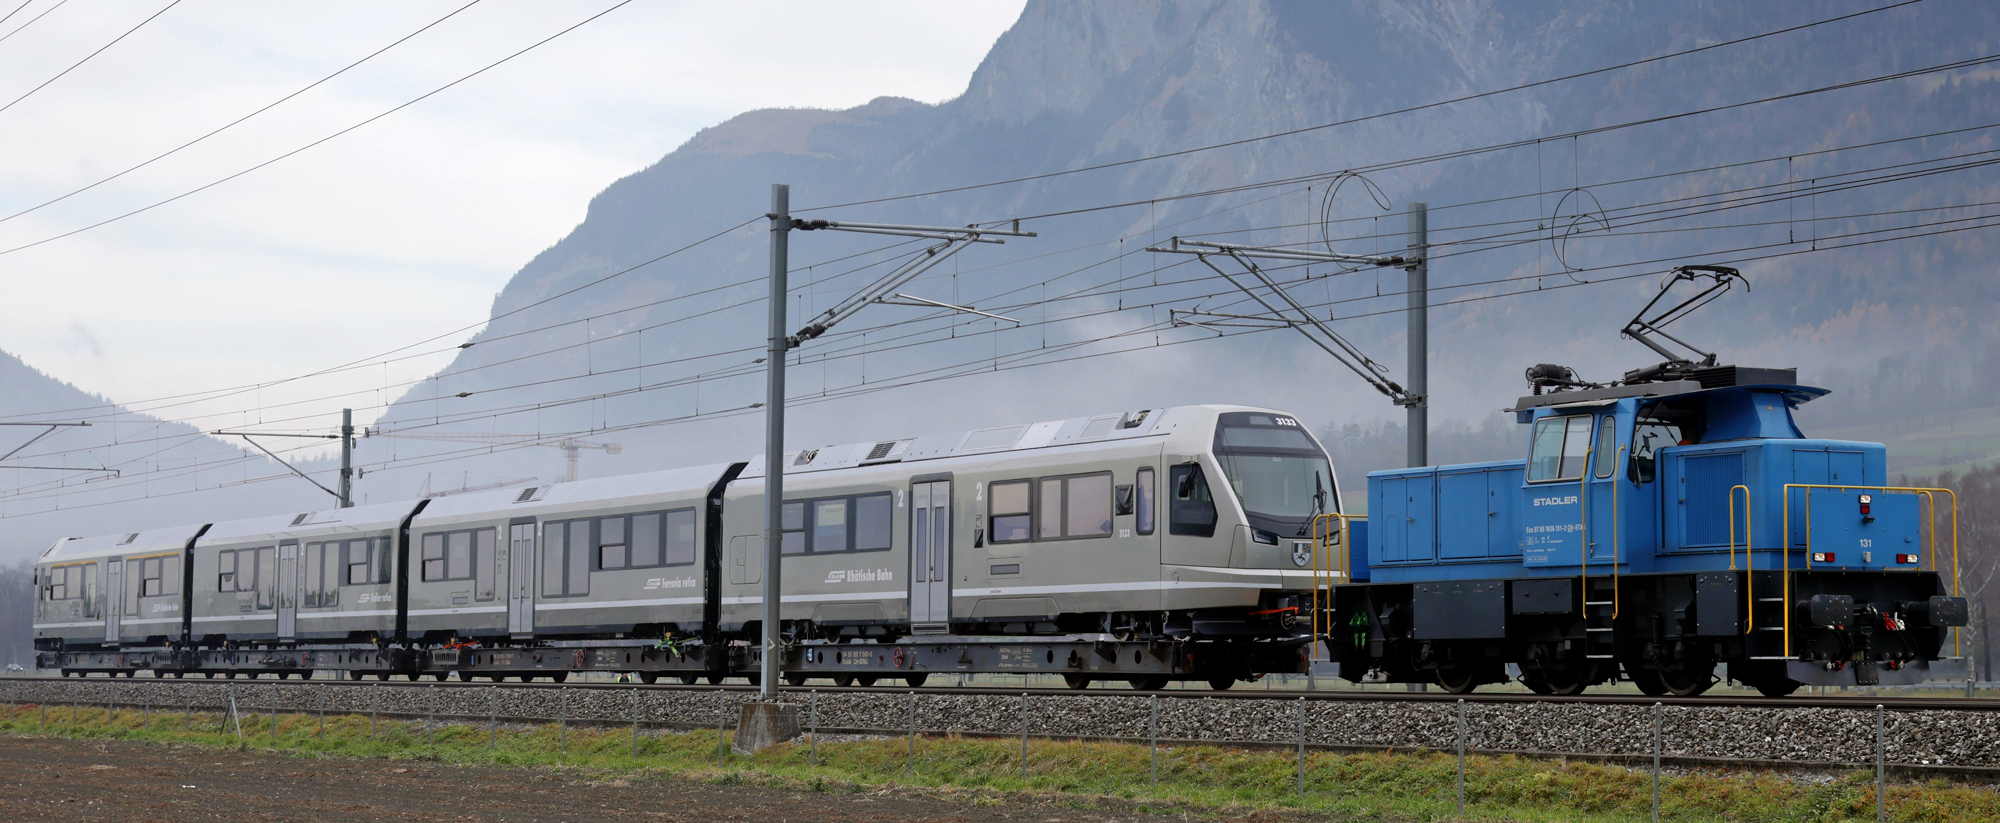
[[[116,402],[284,378],[476,324],[592,194],[694,132],[754,108],[954,98],[1022,8],[636,0],[294,158],[22,248],[242,172],[616,6],[478,0],[194,148],[14,216],[466,4],[172,2],[0,0],[14,12],[0,22],[0,348]],[[212,423],[254,421],[198,421]]]

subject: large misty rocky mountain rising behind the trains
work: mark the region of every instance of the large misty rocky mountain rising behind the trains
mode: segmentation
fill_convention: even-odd
[[[870,306],[796,350],[788,441],[800,447],[1190,402],[1276,406],[1336,427],[1400,419],[1290,332],[1218,338],[1170,326],[1174,310],[1244,312],[1246,304],[1190,260],[1142,248],[1198,236],[1394,254],[1404,248],[1400,212],[1410,202],[1432,206],[1432,417],[1440,425],[1492,427],[1494,410],[1522,394],[1516,376],[1536,362],[1598,380],[1650,364],[1656,358],[1620,342],[1618,328],[1654,294],[1656,274],[1680,262],[1730,260],[1742,260],[1752,290],[1726,296],[1676,332],[1726,360],[1798,366],[1806,382],[1836,388],[1808,408],[1808,423],[1868,427],[1944,398],[1908,394],[1898,380],[1910,372],[1888,364],[1926,364],[1938,386],[1952,386],[1954,404],[2000,406],[1996,384],[1976,378],[1976,352],[1994,340],[1992,314],[1980,308],[2000,296],[1986,234],[1832,250],[1916,234],[1896,226],[1984,214],[1938,210],[2000,200],[1990,198],[1992,174],[1978,166],[1894,184],[1876,178],[1898,164],[1982,152],[1992,132],[1828,152],[2000,122],[1990,70],[1622,126],[1976,58],[1984,52],[1978,32],[2000,22],[1992,6],[1928,2],[1528,92],[1314,128],[1862,8],[1032,2],[956,100],[746,112],[610,184],[574,232],[500,292],[492,324],[436,380],[408,392],[384,425],[598,431],[596,439],[626,447],[616,457],[588,453],[586,473],[760,451],[762,415],[750,406],[762,400],[754,362],[766,330],[768,230],[760,216],[774,182],[790,184],[794,212],[812,218],[926,226],[1026,218],[1022,228],[1038,232],[968,250],[902,290],[974,304],[1018,326]],[[1304,132],[1138,162],[1294,130]],[[1584,130],[1600,132],[1552,138]],[[1506,150],[1394,166],[1508,142]],[[1104,164],[1120,166],[980,186]],[[1680,174],[1712,166],[1724,168]],[[1368,172],[1328,198],[1328,176],[1342,170]],[[1188,196],[1272,180],[1296,182]],[[1390,210],[1368,196],[1370,184]],[[940,194],[908,196],[916,192]],[[1764,202],[1712,208],[1746,196]],[[1694,200],[1668,206],[1708,208],[1662,216],[1658,204],[1674,198]],[[1130,206],[1088,210],[1106,204]],[[1062,214],[1072,210],[1088,212]],[[1978,224],[1942,228],[1964,226]],[[886,270],[866,264],[922,248],[880,240],[794,232],[788,326]],[[1392,378],[1404,372],[1400,272],[1280,266],[1276,276],[1294,280],[1294,298],[1330,314]],[[1504,435],[1486,441],[1512,443]],[[370,475],[376,487],[414,487],[438,467],[556,475],[554,451],[490,451],[364,443],[368,461],[388,461]],[[1354,467],[1342,471],[1356,481]]]

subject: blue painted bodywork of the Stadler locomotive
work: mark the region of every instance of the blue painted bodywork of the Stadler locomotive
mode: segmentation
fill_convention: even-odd
[[[1882,443],[1798,431],[1792,410],[1814,392],[1752,386],[1534,410],[1522,415],[1530,425],[1590,415],[1582,479],[1528,481],[1526,459],[1372,471],[1374,529],[1358,535],[1354,563],[1366,557],[1376,583],[1574,577],[1610,573],[1612,565],[1620,573],[1774,569],[1786,561],[1804,569],[1810,531],[1812,551],[1834,551],[1842,569],[1914,569],[1894,555],[1920,551],[1918,497],[1874,493],[1874,519],[1862,521],[1858,491],[1786,491],[1788,483],[1888,479]],[[1640,471],[1628,465],[1640,445],[1636,417],[1662,400],[1702,404],[1706,427],[1698,443],[1656,441],[1654,475],[1636,481]],[[1778,547],[1788,539],[1792,553],[1784,557]]]

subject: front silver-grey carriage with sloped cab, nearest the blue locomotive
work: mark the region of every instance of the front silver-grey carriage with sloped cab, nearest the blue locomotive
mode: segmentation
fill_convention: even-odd
[[[752,461],[762,465],[762,461]],[[1188,406],[788,455],[794,635],[1294,637],[1338,511],[1286,413]],[[762,619],[762,471],[730,485],[722,623]]]

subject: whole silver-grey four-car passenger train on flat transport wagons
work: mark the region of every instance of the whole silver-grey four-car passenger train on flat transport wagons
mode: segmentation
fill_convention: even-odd
[[[762,463],[64,539],[36,565],[36,645],[44,667],[114,675],[748,673]],[[1296,417],[1238,406],[828,445],[786,465],[794,679],[826,673],[816,645],[954,637],[1152,649],[1106,665],[1034,647],[1036,671],[1072,683],[1296,671],[1310,523],[1340,501]],[[1022,669],[1006,663],[1020,649],[984,651]],[[976,657],[960,649],[958,671],[988,669]],[[914,647],[894,661],[922,665]]]

